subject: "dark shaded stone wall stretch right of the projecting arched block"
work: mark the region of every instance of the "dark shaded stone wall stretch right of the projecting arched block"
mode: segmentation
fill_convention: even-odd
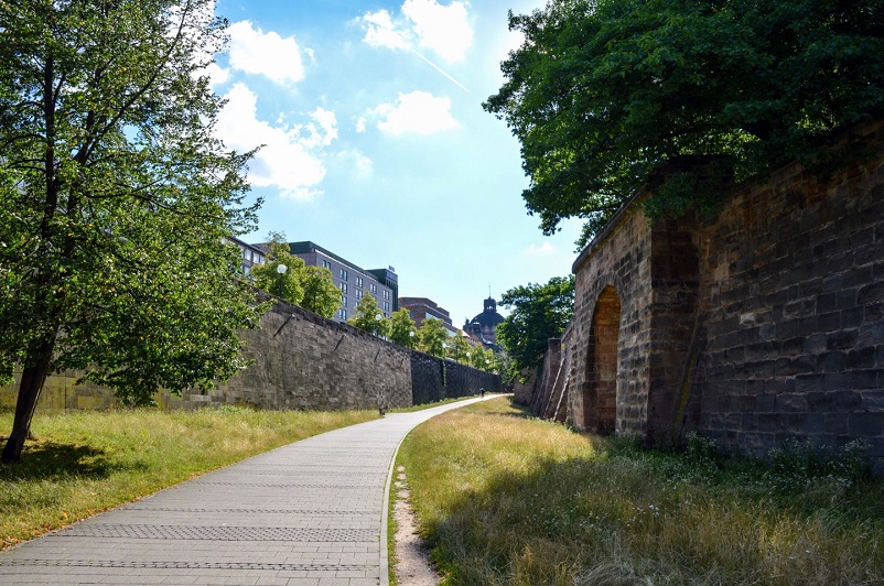
[[[884,143],[881,126],[864,133]],[[864,438],[884,462],[884,163],[824,184],[795,164],[740,186],[697,245],[686,424],[756,454]]]

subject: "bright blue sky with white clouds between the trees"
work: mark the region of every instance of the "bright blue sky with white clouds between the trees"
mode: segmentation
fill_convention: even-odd
[[[219,0],[230,43],[212,67],[228,148],[249,165],[259,227],[363,269],[455,326],[483,300],[567,275],[580,226],[527,215],[519,143],[482,109],[521,39],[507,11],[545,0]],[[507,315],[500,307],[500,313]]]

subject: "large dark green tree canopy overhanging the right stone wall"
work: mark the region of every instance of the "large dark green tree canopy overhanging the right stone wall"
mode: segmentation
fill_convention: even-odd
[[[819,139],[881,115],[882,22],[881,0],[551,0],[510,12],[525,41],[483,107],[521,142],[529,213],[584,219],[583,246],[651,178],[677,216],[715,209],[729,169],[855,155]]]

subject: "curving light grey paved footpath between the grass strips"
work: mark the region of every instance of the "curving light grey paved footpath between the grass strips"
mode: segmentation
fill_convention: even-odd
[[[325,433],[0,552],[0,584],[386,585],[387,490],[416,425]]]

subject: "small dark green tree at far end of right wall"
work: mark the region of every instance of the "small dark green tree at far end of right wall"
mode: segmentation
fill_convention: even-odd
[[[497,326],[497,340],[510,357],[510,375],[520,377],[543,363],[550,338],[564,333],[574,313],[574,276],[553,276],[545,285],[528,283],[504,293],[511,313]]]

